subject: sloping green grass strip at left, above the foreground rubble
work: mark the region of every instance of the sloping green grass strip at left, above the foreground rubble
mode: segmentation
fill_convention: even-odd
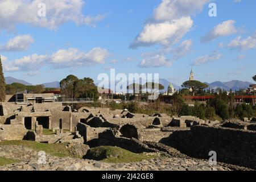
[[[74,157],[71,152],[65,147],[65,143],[38,143],[26,140],[13,140],[13,141],[2,141],[0,142],[1,145],[14,145],[14,146],[25,146],[28,148],[32,148],[35,151],[45,151],[46,154],[54,155],[60,158],[65,157]]]

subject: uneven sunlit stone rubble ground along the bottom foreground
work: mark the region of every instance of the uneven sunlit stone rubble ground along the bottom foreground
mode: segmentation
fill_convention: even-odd
[[[0,167],[0,171],[230,171],[228,167],[211,166],[206,160],[158,158],[137,163],[102,163],[95,160],[47,156],[46,165],[36,159]]]

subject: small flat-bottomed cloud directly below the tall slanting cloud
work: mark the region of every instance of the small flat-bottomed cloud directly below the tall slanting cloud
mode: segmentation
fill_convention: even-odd
[[[158,68],[158,67],[166,67],[170,66],[172,63],[170,60],[168,60],[165,56],[163,55],[155,55],[151,57],[146,57],[139,63],[139,67],[141,68]]]

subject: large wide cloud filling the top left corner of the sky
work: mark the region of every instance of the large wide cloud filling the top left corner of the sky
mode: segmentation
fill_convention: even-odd
[[[46,5],[45,17],[38,15],[40,3]],[[50,30],[56,30],[61,24],[70,21],[95,26],[104,15],[85,16],[82,14],[84,4],[82,0],[0,0],[0,30],[14,30],[16,24],[20,23]]]

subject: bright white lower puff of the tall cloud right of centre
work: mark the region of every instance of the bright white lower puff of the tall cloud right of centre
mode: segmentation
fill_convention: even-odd
[[[163,23],[148,23],[141,34],[131,43],[131,48],[139,46],[150,46],[152,44],[176,43],[190,30],[193,20],[190,17],[184,17]]]

